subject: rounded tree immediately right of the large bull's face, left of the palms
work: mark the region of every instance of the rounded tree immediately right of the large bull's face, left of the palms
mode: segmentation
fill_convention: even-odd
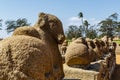
[[[68,31],[66,31],[67,39],[81,37],[81,29],[75,25],[70,25]]]

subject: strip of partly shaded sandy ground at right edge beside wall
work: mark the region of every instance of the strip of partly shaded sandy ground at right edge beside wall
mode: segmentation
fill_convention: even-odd
[[[111,80],[120,80],[120,46],[116,49],[116,68]]]

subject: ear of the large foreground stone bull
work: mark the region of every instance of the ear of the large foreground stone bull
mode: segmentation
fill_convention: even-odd
[[[47,24],[48,22],[48,16],[45,13],[40,13],[39,14],[39,19],[37,24],[39,25],[40,28],[44,27],[45,24]]]

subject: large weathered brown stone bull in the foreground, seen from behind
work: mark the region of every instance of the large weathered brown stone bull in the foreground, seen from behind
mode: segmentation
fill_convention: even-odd
[[[64,40],[61,21],[40,13],[34,26],[17,28],[0,41],[0,80],[62,80],[58,44]]]

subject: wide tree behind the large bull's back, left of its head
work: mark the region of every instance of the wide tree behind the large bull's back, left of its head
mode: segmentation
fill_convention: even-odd
[[[12,31],[14,31],[16,28],[20,27],[20,26],[29,26],[30,23],[27,22],[26,18],[19,18],[16,21],[15,20],[8,20],[5,22],[5,24],[7,25],[7,33],[10,33]]]

